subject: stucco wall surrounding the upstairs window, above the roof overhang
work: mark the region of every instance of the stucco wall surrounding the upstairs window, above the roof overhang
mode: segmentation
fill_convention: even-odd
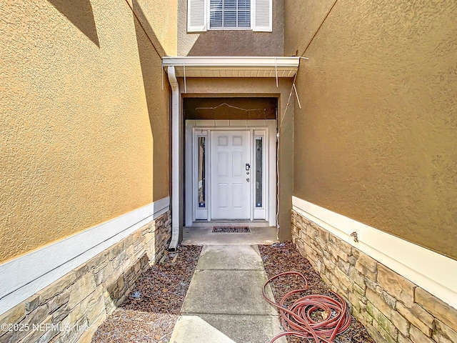
[[[178,56],[283,56],[283,0],[273,0],[273,31],[187,33],[187,1],[178,0]]]

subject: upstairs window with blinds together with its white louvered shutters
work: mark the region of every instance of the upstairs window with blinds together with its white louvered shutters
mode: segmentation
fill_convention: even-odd
[[[271,32],[272,0],[187,0],[187,31],[252,29]]]

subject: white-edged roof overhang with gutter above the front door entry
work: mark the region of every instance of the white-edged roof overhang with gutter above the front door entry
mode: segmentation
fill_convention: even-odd
[[[299,57],[285,56],[164,56],[165,70],[174,66],[178,77],[293,77]]]

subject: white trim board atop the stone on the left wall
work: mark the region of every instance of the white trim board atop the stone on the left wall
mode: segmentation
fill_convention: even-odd
[[[166,197],[0,264],[0,314],[169,210]]]

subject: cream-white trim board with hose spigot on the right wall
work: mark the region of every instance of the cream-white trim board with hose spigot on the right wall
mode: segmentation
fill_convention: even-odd
[[[456,260],[297,197],[292,197],[292,208],[457,309]],[[358,242],[351,232],[357,232]]]

